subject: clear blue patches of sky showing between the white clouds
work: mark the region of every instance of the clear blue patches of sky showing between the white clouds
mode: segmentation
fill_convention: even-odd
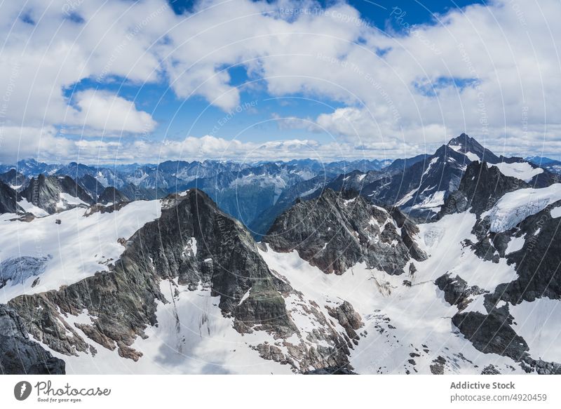
[[[177,15],[193,11],[195,3],[191,0],[169,1]],[[402,3],[400,6],[396,6],[395,1],[348,2],[360,12],[360,18],[377,29],[388,32],[388,35],[406,32],[412,25],[438,25],[435,15],[446,13],[450,11],[450,8],[461,8],[481,2],[462,0],[457,2],[406,1]],[[325,8],[334,2],[320,1],[319,4]],[[319,114],[344,107],[344,104],[337,100],[323,98],[321,101],[316,101],[313,98],[307,98],[307,95],[303,93],[292,93],[283,97],[271,96],[266,92],[264,81],[258,77],[249,76],[243,65],[227,67],[227,71],[231,76],[230,84],[242,89],[241,101],[256,102],[257,105],[253,109],[244,109],[240,114],[236,114],[224,126],[217,126],[217,122],[224,119],[228,112],[209,105],[207,100],[198,95],[187,100],[177,98],[167,83],[138,87],[134,83],[124,81],[123,78],[116,78],[113,83],[97,83],[92,79],[84,79],[69,88],[67,95],[71,96],[72,92],[83,89],[99,88],[112,90],[124,98],[134,99],[140,109],[150,112],[160,123],[158,129],[152,134],[155,140],[162,140],[166,136],[170,139],[182,139],[188,135],[205,135],[211,133],[213,129],[215,131],[212,132],[212,135],[219,138],[240,138],[251,142],[309,138],[310,130],[279,127],[274,118],[276,116],[295,116],[295,113],[301,117],[315,118]],[[446,81],[446,79],[442,81]],[[438,84],[436,88],[438,88]],[[437,91],[431,86],[424,92],[433,94]],[[312,136],[320,142],[330,142],[332,139],[331,135],[325,133],[316,133]]]

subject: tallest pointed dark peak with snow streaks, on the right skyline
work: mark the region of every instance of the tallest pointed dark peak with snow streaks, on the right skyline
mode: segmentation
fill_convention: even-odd
[[[503,175],[534,187],[556,182],[555,175],[521,158],[496,156],[465,133],[452,138],[432,155],[398,159],[382,170],[353,171],[334,178],[327,187],[353,189],[384,206],[398,206],[419,222],[431,220],[455,192],[469,163],[485,161]],[[316,192],[316,196],[319,192]]]

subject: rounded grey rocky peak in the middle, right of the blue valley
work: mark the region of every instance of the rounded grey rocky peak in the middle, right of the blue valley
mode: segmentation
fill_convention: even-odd
[[[426,255],[413,240],[417,227],[397,209],[386,210],[353,192],[326,189],[318,199],[299,201],[280,215],[264,241],[325,273],[342,274],[358,262],[388,274],[403,274],[413,257]]]

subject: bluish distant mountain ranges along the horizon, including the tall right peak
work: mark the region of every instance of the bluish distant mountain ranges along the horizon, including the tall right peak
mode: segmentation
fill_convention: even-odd
[[[542,163],[540,166],[539,163]],[[61,192],[75,196],[79,188],[89,199],[83,203],[109,197],[119,201],[152,200],[170,193],[197,188],[207,193],[219,208],[240,220],[255,239],[268,231],[273,221],[299,198],[312,199],[330,188],[353,189],[374,203],[398,206],[414,220],[431,220],[451,192],[458,189],[464,171],[472,161],[486,161],[505,175],[520,178],[529,185],[543,187],[561,170],[561,163],[536,157],[524,160],[496,156],[466,134],[453,138],[434,154],[408,159],[336,161],[321,163],[312,159],[289,162],[236,163],[232,161],[165,161],[147,165],[65,166],[19,161],[15,166],[0,166],[0,181],[16,192],[23,192],[39,175],[71,177],[76,189]],[[107,191],[107,188],[116,190]],[[67,189],[68,190],[68,189]],[[29,189],[23,197],[27,208],[41,208],[53,213],[60,201],[53,192],[39,194],[32,200]],[[105,193],[101,199],[100,195]],[[42,199],[47,194],[48,199]],[[47,202],[50,202],[47,204]],[[67,201],[68,202],[68,201]],[[67,203],[65,206],[74,206]]]

